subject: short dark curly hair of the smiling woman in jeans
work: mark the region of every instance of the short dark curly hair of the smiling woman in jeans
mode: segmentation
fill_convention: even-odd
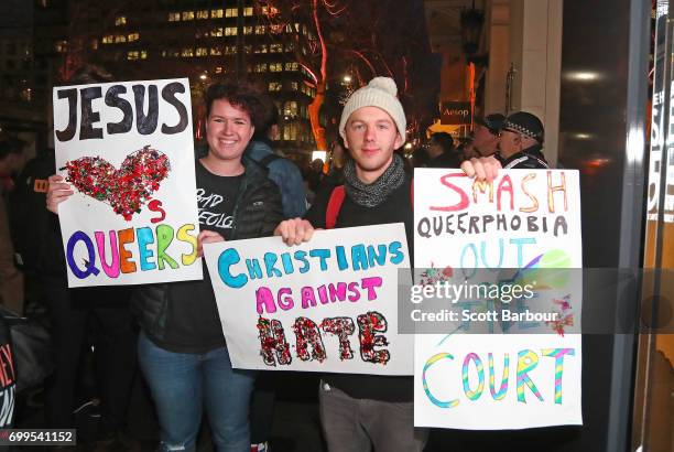
[[[210,85],[204,98],[206,103],[206,118],[210,116],[214,101],[227,100],[232,106],[246,111],[250,116],[250,121],[256,129],[264,129],[270,115],[264,96],[264,93],[249,82],[227,80]]]

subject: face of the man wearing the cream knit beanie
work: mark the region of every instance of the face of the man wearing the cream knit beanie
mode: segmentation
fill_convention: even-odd
[[[349,116],[344,141],[362,182],[374,182],[389,168],[402,137],[391,116],[378,107],[362,107]]]

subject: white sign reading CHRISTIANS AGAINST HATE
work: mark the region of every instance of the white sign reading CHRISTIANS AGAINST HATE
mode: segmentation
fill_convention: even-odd
[[[412,374],[413,338],[398,334],[398,271],[410,268],[402,224],[318,230],[298,247],[269,237],[204,252],[235,367]]]

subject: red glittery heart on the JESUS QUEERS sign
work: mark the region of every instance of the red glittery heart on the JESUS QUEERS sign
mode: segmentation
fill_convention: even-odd
[[[100,157],[81,157],[66,163],[70,182],[80,193],[109,204],[130,220],[157,191],[171,171],[168,158],[149,146],[127,155],[119,170]]]

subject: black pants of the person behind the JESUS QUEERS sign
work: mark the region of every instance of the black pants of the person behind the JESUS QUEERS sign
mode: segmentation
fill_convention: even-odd
[[[50,428],[73,428],[76,384],[89,322],[95,322],[95,363],[101,399],[101,433],[110,434],[126,420],[135,373],[137,329],[129,312],[130,289],[68,289],[64,280],[44,279],[52,323],[55,372],[46,386]]]

